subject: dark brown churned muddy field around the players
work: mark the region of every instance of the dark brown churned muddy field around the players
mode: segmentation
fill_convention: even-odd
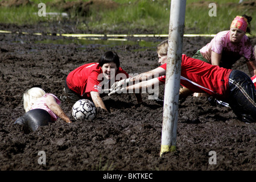
[[[44,32],[38,27],[6,24],[0,24],[0,30]],[[69,43],[42,43],[57,39]],[[164,39],[146,40],[160,43]],[[63,98],[68,73],[97,61],[109,50],[118,53],[121,67],[128,73],[158,67],[155,49],[151,47],[126,43],[114,47],[85,45],[71,40],[46,34],[0,34],[2,171],[255,171],[256,123],[238,121],[229,107],[211,106],[205,97],[191,96],[179,104],[176,151],[162,157],[159,152],[163,105],[148,100],[147,93],[142,94],[141,105],[133,94],[105,97],[105,105],[112,112],[98,110],[91,122],[68,124],[58,119],[34,133],[24,134],[14,121],[24,114],[22,94],[29,88],[39,86]],[[192,56],[209,40],[184,38],[183,52]],[[255,45],[256,39],[251,42]],[[234,69],[248,74],[243,59]],[[164,86],[160,86],[162,99],[163,90]],[[71,105],[64,99],[61,107],[72,118]],[[38,163],[39,151],[46,152],[46,164]],[[210,151],[216,152],[217,164],[209,164]]]

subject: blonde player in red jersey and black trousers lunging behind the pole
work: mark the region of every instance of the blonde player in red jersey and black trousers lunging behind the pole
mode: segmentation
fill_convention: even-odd
[[[120,91],[130,93],[142,88],[152,88],[154,85],[163,85],[166,79],[167,48],[168,40],[157,47],[159,63],[162,64],[160,67],[115,82],[109,95]],[[159,77],[154,78],[155,75]],[[241,121],[256,122],[256,90],[251,78],[245,73],[182,55],[180,84],[187,89],[180,91],[181,98],[193,92],[205,92],[218,100],[227,102]]]

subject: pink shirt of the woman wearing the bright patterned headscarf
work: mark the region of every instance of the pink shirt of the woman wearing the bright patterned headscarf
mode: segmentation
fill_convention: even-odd
[[[225,68],[231,68],[241,56],[246,60],[254,61],[253,46],[249,38],[244,35],[241,42],[233,44],[230,42],[230,31],[219,32],[206,46],[200,49],[201,55],[211,62],[212,51],[221,54],[221,63],[228,64]],[[227,63],[228,62],[228,63]]]

